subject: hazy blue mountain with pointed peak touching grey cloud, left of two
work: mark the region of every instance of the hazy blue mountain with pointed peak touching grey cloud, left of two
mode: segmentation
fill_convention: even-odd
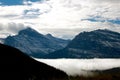
[[[69,40],[55,38],[51,34],[40,34],[32,28],[21,30],[18,35],[8,36],[4,40],[4,44],[37,58],[64,48],[68,42]]]

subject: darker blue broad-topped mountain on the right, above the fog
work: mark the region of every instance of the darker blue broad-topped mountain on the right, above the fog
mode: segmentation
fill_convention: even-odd
[[[107,29],[80,33],[46,58],[120,58],[120,33]]]

